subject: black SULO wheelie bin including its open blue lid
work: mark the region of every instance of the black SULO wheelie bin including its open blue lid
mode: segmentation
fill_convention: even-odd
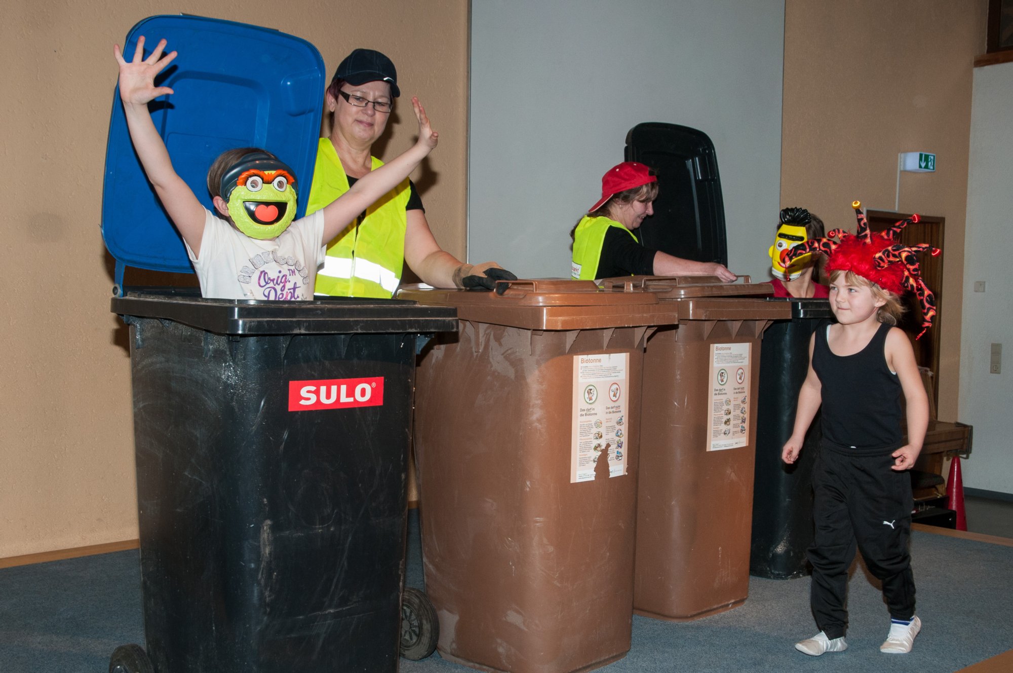
[[[156,125],[194,194],[223,144],[265,145],[310,183],[324,87],[311,45],[161,16],[127,53],[142,30],[180,53]],[[110,672],[396,671],[415,356],[421,334],[457,328],[454,309],[125,291],[128,265],[189,264],[119,101],[102,234],[111,310],[130,325],[146,639],[118,648]]]

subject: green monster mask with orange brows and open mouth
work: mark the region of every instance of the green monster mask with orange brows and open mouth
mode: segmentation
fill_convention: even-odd
[[[276,238],[296,216],[296,177],[265,152],[250,152],[229,168],[221,194],[236,228],[250,238]]]

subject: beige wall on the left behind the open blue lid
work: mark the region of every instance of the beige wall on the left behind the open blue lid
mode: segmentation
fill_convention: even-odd
[[[0,557],[137,536],[130,361],[98,229],[102,163],[112,44],[146,16],[177,12],[304,38],[328,76],[356,47],[389,55],[441,132],[420,186],[437,238],[464,253],[467,0],[4,3],[0,157],[12,196],[2,213],[17,254],[0,293]],[[410,111],[394,122],[386,156],[413,140]]]

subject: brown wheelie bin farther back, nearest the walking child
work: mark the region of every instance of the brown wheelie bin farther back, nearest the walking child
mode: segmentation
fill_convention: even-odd
[[[612,279],[673,307],[644,355],[634,612],[684,621],[749,595],[760,343],[769,283]],[[754,295],[750,297],[749,295]]]

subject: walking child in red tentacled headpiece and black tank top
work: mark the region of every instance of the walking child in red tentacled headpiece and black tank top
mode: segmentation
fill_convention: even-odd
[[[906,247],[893,237],[910,222],[870,233],[857,201],[858,231],[806,241],[785,250],[796,255],[829,255],[830,305],[837,318],[824,321],[809,342],[809,370],[798,393],[791,437],[781,457],[793,463],[805,430],[823,404],[823,444],[812,472],[815,538],[810,604],[820,632],[795,645],[807,655],[843,652],[848,626],[845,595],[855,546],[882,582],[890,626],[879,650],[911,651],[922,622],[915,616],[915,581],[908,542],[913,499],[906,471],[915,464],[928,426],[929,407],[914,350],[891,326],[902,311],[898,295],[912,290],[924,313],[922,333],[935,315],[935,301],[919,276],[916,253],[939,250],[927,244]],[[907,400],[908,443],[901,430],[901,392]]]

